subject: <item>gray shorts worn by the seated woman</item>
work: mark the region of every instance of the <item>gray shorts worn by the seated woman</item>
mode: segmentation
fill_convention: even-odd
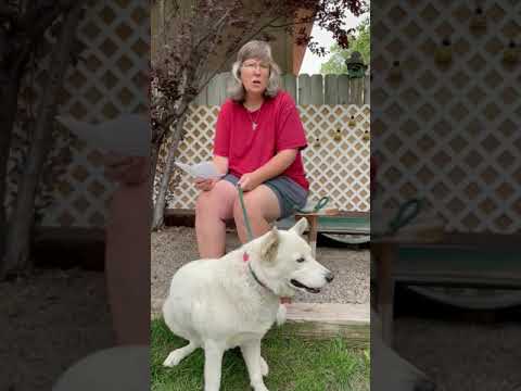
[[[239,178],[232,174],[227,174],[223,179],[228,180],[233,186],[237,186],[239,181]],[[297,209],[304,207],[306,204],[308,191],[285,176],[275,177],[263,182],[263,185],[269,187],[279,200],[279,218],[291,216]]]

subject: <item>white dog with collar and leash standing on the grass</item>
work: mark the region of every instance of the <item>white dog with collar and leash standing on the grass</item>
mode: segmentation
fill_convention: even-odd
[[[333,275],[312,256],[301,235],[302,218],[288,231],[274,228],[219,260],[200,260],[173,277],[163,316],[170,330],[190,343],[168,355],[171,367],[198,348],[204,349],[204,390],[220,386],[223,354],[240,346],[255,391],[267,391],[268,365],[260,340],[277,318],[280,297],[296,290],[318,293]]]

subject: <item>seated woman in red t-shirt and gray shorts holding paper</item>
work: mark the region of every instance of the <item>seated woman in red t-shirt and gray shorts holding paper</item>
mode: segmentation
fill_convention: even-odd
[[[279,88],[280,70],[269,45],[244,45],[231,73],[231,99],[217,118],[213,157],[227,175],[195,181],[202,190],[195,209],[201,257],[224,255],[227,219],[234,219],[241,242],[247,241],[237,186],[244,191],[255,237],[302,207],[309,189],[301,156],[307,147],[304,127],[293,99]]]

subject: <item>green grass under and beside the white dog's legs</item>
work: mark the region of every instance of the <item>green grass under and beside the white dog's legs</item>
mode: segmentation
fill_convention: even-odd
[[[168,353],[187,344],[162,319],[152,321],[151,381],[153,391],[203,390],[204,354],[198,349],[174,368],[163,367]],[[263,340],[269,365],[265,384],[270,391],[367,391],[369,351],[348,349],[341,338],[304,341],[281,338],[270,331]],[[225,353],[221,391],[250,390],[246,367],[239,349]]]

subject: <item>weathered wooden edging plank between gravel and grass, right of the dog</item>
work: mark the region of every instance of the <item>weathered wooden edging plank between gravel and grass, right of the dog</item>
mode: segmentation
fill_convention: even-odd
[[[370,342],[369,304],[293,303],[288,305],[287,323],[268,336],[303,339],[341,337],[352,348],[367,348]]]

